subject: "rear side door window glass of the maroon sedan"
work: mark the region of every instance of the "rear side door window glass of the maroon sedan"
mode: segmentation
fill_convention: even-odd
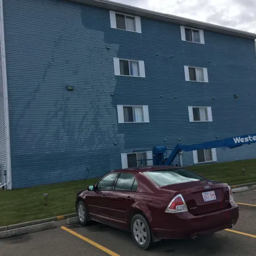
[[[132,174],[122,172],[118,177],[115,189],[117,191],[137,191],[138,183]]]

